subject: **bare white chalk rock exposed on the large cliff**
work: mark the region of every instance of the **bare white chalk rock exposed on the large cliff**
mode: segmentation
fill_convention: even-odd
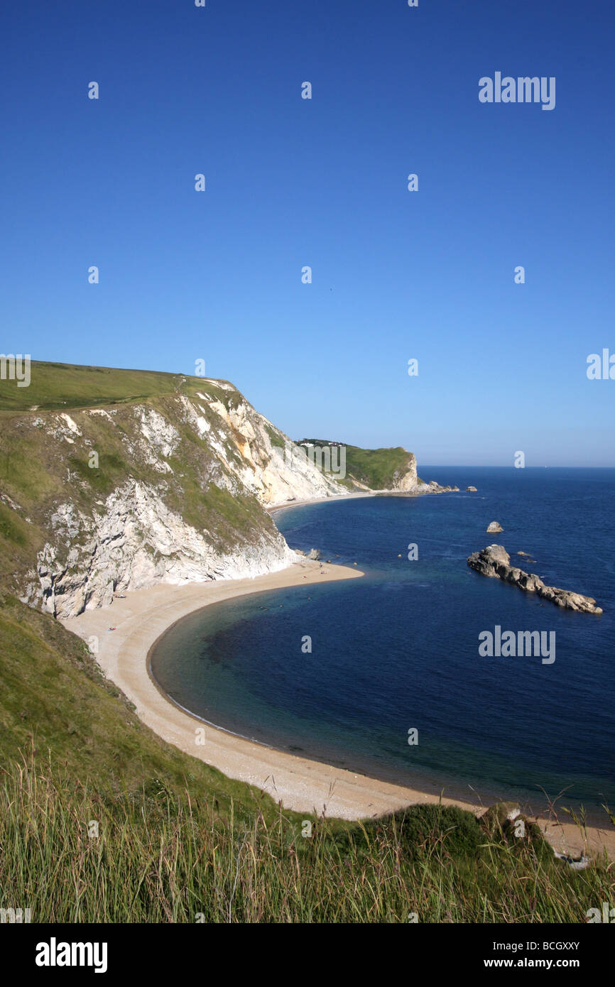
[[[128,466],[149,470],[151,478],[128,474],[112,493],[90,499],[84,508],[80,500],[88,499],[88,473],[75,476],[69,466],[68,478],[81,496],[60,500],[48,512],[47,540],[38,552],[36,569],[29,573],[23,599],[58,617],[69,617],[112,603],[114,594],[158,582],[252,577],[296,561],[258,507],[249,533],[244,535],[238,523],[238,530],[231,531],[234,544],[229,546],[221,544],[217,530],[207,529],[206,521],[201,526],[190,523],[181,510],[170,506],[172,485],[181,488],[183,482],[183,465],[178,465],[183,457],[198,470],[204,495],[215,487],[233,497],[275,505],[347,493],[313,463],[284,455],[284,445],[292,447],[290,440],[237,397],[238,403],[228,409],[217,397],[198,392],[196,399],[184,395],[170,399],[164,413],[136,405],[111,414],[91,409],[74,412],[72,418],[38,414],[31,419],[31,427],[43,431],[56,450],[63,443],[73,446],[81,440],[83,455],[97,449],[102,465],[105,443],[113,436]],[[99,427],[92,437],[91,422]],[[101,426],[107,430],[102,440]],[[70,454],[76,453],[71,449]],[[175,457],[173,466],[171,457]]]

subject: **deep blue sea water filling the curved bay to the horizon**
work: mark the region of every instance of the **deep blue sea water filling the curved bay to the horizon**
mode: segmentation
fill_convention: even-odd
[[[615,806],[615,470],[421,474],[462,493],[277,512],[293,548],[365,576],[192,614],[156,646],[154,677],[196,716],[280,749],[486,802],[542,808],[564,793],[559,804],[604,821],[601,804]],[[471,484],[478,493],[465,493]],[[499,535],[486,533],[493,520]],[[548,584],[595,597],[603,615],[469,569],[468,555],[493,542]],[[556,660],[481,656],[479,635],[497,625],[555,632]]]

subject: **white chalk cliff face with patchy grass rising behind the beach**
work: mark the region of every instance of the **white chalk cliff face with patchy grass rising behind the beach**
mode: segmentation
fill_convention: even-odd
[[[25,602],[66,618],[157,582],[283,569],[296,555],[265,507],[348,493],[232,384],[177,380],[173,393],[5,419],[4,573]],[[416,489],[409,462],[399,490]]]

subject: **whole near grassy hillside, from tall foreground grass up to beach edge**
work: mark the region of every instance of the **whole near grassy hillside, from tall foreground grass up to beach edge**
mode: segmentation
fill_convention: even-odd
[[[80,639],[7,596],[0,642],[0,908],[33,922],[582,923],[613,899],[606,861],[574,872],[529,825],[282,810],[159,739]]]

